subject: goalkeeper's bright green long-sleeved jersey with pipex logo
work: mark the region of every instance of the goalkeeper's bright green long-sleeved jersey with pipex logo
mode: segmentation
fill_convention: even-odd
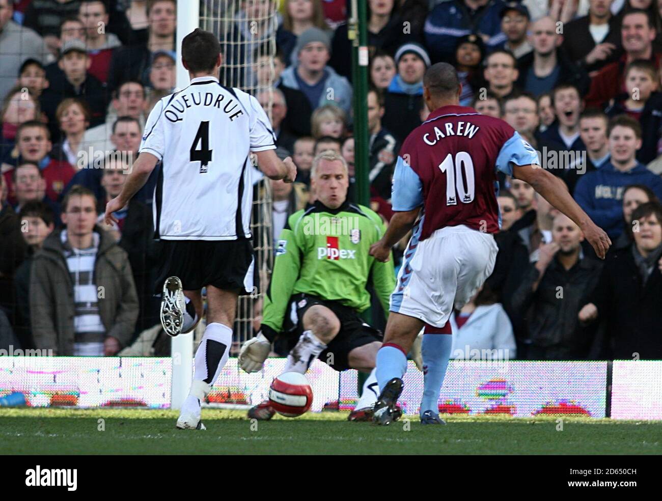
[[[368,281],[388,312],[393,259],[382,263],[369,255],[385,230],[376,212],[348,202],[334,210],[316,202],[289,216],[277,243],[262,324],[281,332],[290,297],[299,293],[362,312],[370,306]]]

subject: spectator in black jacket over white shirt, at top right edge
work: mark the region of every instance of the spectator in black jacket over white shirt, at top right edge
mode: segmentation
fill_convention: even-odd
[[[561,48],[589,73],[616,60],[621,49],[620,21],[611,5],[612,0],[589,0],[589,14],[563,28]]]

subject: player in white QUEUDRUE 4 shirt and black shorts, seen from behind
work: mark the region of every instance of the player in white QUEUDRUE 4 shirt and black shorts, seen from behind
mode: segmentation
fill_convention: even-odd
[[[195,353],[195,375],[177,428],[204,429],[201,401],[228,360],[239,293],[253,289],[250,234],[250,153],[271,179],[294,181],[291,158],[275,154],[269,119],[255,97],[218,82],[220,43],[199,28],[181,45],[191,84],[164,97],[147,120],[140,156],[122,193],[106,206],[120,210],[160,163],[154,193],[155,238],[162,241],[157,290],[163,287],[161,322],[170,336],[190,332],[203,315],[207,327]]]

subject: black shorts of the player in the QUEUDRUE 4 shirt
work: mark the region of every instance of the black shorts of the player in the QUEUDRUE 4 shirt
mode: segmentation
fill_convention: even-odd
[[[167,277],[178,277],[185,291],[213,285],[224,291],[253,292],[253,244],[242,240],[161,240],[155,293]]]

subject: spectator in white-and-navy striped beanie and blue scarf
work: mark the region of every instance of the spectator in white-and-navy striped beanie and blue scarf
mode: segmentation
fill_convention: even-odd
[[[430,56],[420,44],[404,44],[395,53],[395,64],[398,72],[386,89],[381,122],[402,144],[421,122],[423,75],[430,66]]]

